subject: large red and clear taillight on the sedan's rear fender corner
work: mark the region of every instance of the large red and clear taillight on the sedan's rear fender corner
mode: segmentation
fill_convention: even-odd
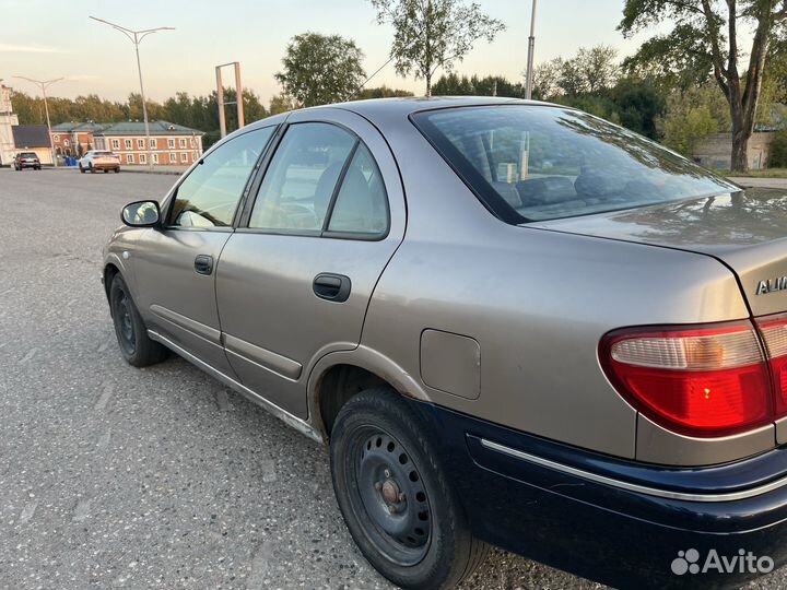
[[[748,321],[611,332],[600,358],[618,391],[670,430],[724,436],[773,420],[768,367]]]

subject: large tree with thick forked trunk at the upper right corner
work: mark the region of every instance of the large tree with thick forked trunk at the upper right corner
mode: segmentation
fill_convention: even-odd
[[[693,62],[710,64],[732,120],[732,169],[745,172],[768,47],[787,21],[787,0],[625,0],[619,28],[630,36],[667,20],[676,22],[674,28],[646,43],[639,54],[647,55],[639,61],[669,64],[676,57],[673,48],[679,48],[691,51]],[[749,25],[754,35],[748,70],[741,74],[738,30]]]

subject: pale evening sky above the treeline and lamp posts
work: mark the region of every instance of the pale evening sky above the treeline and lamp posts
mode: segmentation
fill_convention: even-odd
[[[520,80],[527,61],[531,0],[477,0],[507,30],[475,48],[456,66],[461,74],[501,74]],[[540,0],[536,19],[535,61],[572,56],[579,47],[603,43],[621,56],[636,50],[643,37],[624,39],[615,30],[623,0]],[[243,83],[265,104],[280,92],[273,74],[289,39],[307,31],[352,38],[372,73],[388,59],[392,28],[378,25],[368,0],[0,0],[0,79],[16,90],[36,87],[15,80],[64,78],[49,94],[75,97],[95,93],[125,101],[138,92],[133,45],[121,33],[89,19],[98,16],[128,28],[174,26],[140,45],[149,99],[176,92],[208,94],[215,87],[214,67],[239,61]],[[232,75],[227,70],[226,76]],[[439,75],[439,72],[438,72]],[[225,78],[225,85],[227,78]],[[423,94],[423,81],[396,74],[389,64],[367,86]]]

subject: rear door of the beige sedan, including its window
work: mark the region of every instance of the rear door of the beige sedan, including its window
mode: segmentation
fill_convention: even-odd
[[[216,300],[243,384],[306,417],[314,363],[360,342],[404,196],[383,137],[344,110],[293,114],[269,160],[222,251]]]

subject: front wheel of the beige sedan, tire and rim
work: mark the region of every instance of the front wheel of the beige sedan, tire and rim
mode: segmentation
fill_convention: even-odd
[[[115,275],[109,287],[109,309],[120,354],[129,365],[146,367],[167,357],[167,349],[148,338],[148,329],[119,274]]]

